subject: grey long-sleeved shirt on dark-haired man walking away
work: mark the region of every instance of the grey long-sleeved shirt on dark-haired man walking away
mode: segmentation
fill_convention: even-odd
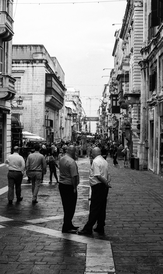
[[[35,151],[34,153],[30,154],[27,158],[26,168],[27,171],[30,170],[42,170],[42,172],[46,172],[46,161],[45,157],[40,154],[39,151]]]

